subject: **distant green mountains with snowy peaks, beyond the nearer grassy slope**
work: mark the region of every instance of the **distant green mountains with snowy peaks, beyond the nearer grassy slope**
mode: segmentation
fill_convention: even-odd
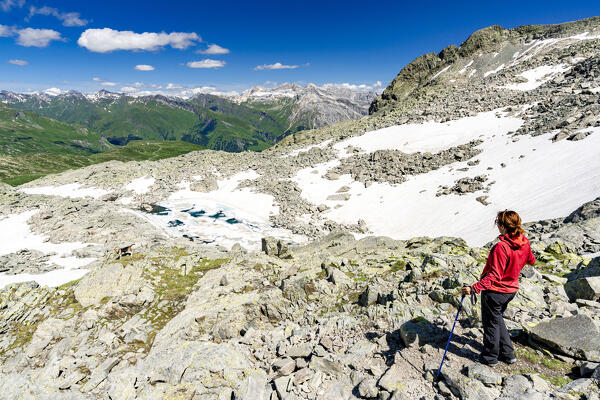
[[[0,91],[0,101],[101,134],[114,145],[135,139],[183,140],[211,149],[263,150],[290,133],[360,118],[376,93],[338,85],[251,88],[237,97],[198,94],[189,99]]]

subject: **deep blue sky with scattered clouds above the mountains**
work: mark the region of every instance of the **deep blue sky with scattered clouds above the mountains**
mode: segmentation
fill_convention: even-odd
[[[415,57],[485,26],[595,15],[598,1],[0,0],[0,89],[385,86]]]

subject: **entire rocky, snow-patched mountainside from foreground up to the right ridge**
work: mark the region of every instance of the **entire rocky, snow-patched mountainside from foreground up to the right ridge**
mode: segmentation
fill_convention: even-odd
[[[262,152],[0,185],[0,393],[597,398],[599,61],[600,18],[490,27],[405,66],[371,115]],[[537,258],[503,316],[518,360],[476,362],[465,299],[435,380],[504,209]]]

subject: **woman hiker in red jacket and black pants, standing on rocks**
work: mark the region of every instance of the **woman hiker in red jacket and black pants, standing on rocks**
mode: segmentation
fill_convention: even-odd
[[[508,364],[517,361],[503,313],[519,290],[521,269],[535,263],[519,214],[500,211],[495,224],[500,241],[492,247],[479,282],[462,288],[463,295],[481,293],[483,351],[479,361],[490,367],[498,365],[499,359]]]

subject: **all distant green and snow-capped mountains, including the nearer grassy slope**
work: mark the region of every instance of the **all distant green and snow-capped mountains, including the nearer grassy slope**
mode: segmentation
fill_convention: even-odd
[[[260,151],[291,133],[366,115],[375,96],[312,84],[189,99],[0,91],[0,180],[18,184],[110,159],[157,159],[202,148]],[[128,145],[139,140],[155,145]]]

